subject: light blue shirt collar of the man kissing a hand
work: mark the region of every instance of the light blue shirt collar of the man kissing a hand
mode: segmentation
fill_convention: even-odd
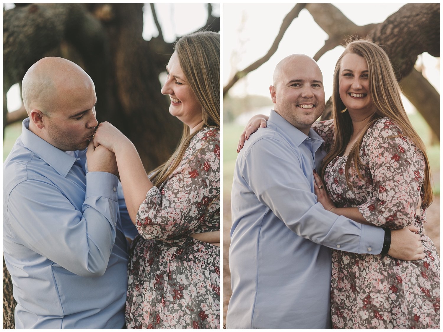
[[[23,120],[21,135],[23,145],[44,160],[49,166],[54,168],[58,174],[66,176],[74,164],[76,157],[70,156],[68,153],[49,144],[47,141],[43,140],[43,138],[32,133],[28,128],[29,117]]]

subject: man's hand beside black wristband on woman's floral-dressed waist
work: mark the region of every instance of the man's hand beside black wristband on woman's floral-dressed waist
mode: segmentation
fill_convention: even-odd
[[[416,261],[425,258],[424,246],[421,243],[419,229],[408,226],[401,230],[391,230],[391,247],[388,255],[404,261]]]

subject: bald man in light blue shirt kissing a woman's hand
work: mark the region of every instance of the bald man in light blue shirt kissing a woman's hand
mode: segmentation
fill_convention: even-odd
[[[91,141],[93,81],[49,57],[31,66],[22,90],[29,118],[4,162],[3,195],[16,328],[123,328],[125,207],[115,156]]]

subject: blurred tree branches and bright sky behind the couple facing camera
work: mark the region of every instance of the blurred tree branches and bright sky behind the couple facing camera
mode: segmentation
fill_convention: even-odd
[[[427,145],[435,198],[425,232],[439,250],[439,13],[439,4],[223,4],[224,319],[231,295],[230,195],[240,134],[250,117],[269,114],[272,73],[287,55],[303,53],[318,61],[328,99],[341,45],[356,32],[391,50],[404,106]]]

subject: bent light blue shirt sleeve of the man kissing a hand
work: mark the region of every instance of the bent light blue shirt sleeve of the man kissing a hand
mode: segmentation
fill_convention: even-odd
[[[18,184],[8,200],[12,232],[24,246],[85,277],[105,273],[116,236],[116,176],[86,174],[82,211],[47,179]]]

